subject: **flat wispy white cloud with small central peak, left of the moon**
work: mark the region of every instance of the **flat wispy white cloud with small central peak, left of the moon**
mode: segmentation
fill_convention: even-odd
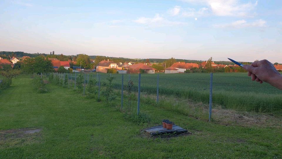
[[[156,14],[153,18],[146,18],[146,17],[140,17],[133,22],[139,23],[139,24],[145,24],[145,25],[152,25],[155,27],[161,27],[161,26],[173,26],[173,25],[187,25],[186,22],[181,21],[169,21],[167,19],[164,19],[160,14]]]

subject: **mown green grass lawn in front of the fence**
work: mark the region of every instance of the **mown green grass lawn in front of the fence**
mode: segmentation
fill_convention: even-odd
[[[138,125],[115,107],[63,87],[47,84],[51,91],[38,94],[31,81],[19,77],[1,91],[0,158],[282,158],[280,127],[208,123],[145,104],[141,112],[152,122]],[[192,135],[149,138],[140,133],[164,118]],[[25,128],[41,131],[7,132]]]

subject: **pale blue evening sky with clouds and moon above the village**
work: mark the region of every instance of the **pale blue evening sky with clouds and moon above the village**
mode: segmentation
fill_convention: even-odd
[[[282,63],[282,1],[0,0],[0,51]]]

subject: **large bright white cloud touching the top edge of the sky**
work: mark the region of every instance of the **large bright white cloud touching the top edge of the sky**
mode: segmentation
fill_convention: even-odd
[[[181,0],[194,4],[204,4],[217,16],[254,16],[252,11],[258,4],[240,3],[239,0]]]

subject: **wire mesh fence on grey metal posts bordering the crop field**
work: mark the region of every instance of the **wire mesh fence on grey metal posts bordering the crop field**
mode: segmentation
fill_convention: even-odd
[[[43,75],[50,77],[50,74]],[[77,79],[80,73],[53,75],[60,79],[59,84],[78,89]],[[120,107],[131,113],[138,113],[139,110],[142,112],[142,105],[152,105],[209,120],[209,103],[212,103],[213,109],[240,111],[271,112],[282,108],[280,90],[265,83],[260,85],[252,82],[245,73],[216,73],[212,80],[208,73],[141,74],[140,80],[139,74],[82,73],[81,76],[83,94],[89,79],[95,79],[99,97],[107,76],[114,77],[112,88],[121,101]],[[67,82],[63,83],[64,79]]]

